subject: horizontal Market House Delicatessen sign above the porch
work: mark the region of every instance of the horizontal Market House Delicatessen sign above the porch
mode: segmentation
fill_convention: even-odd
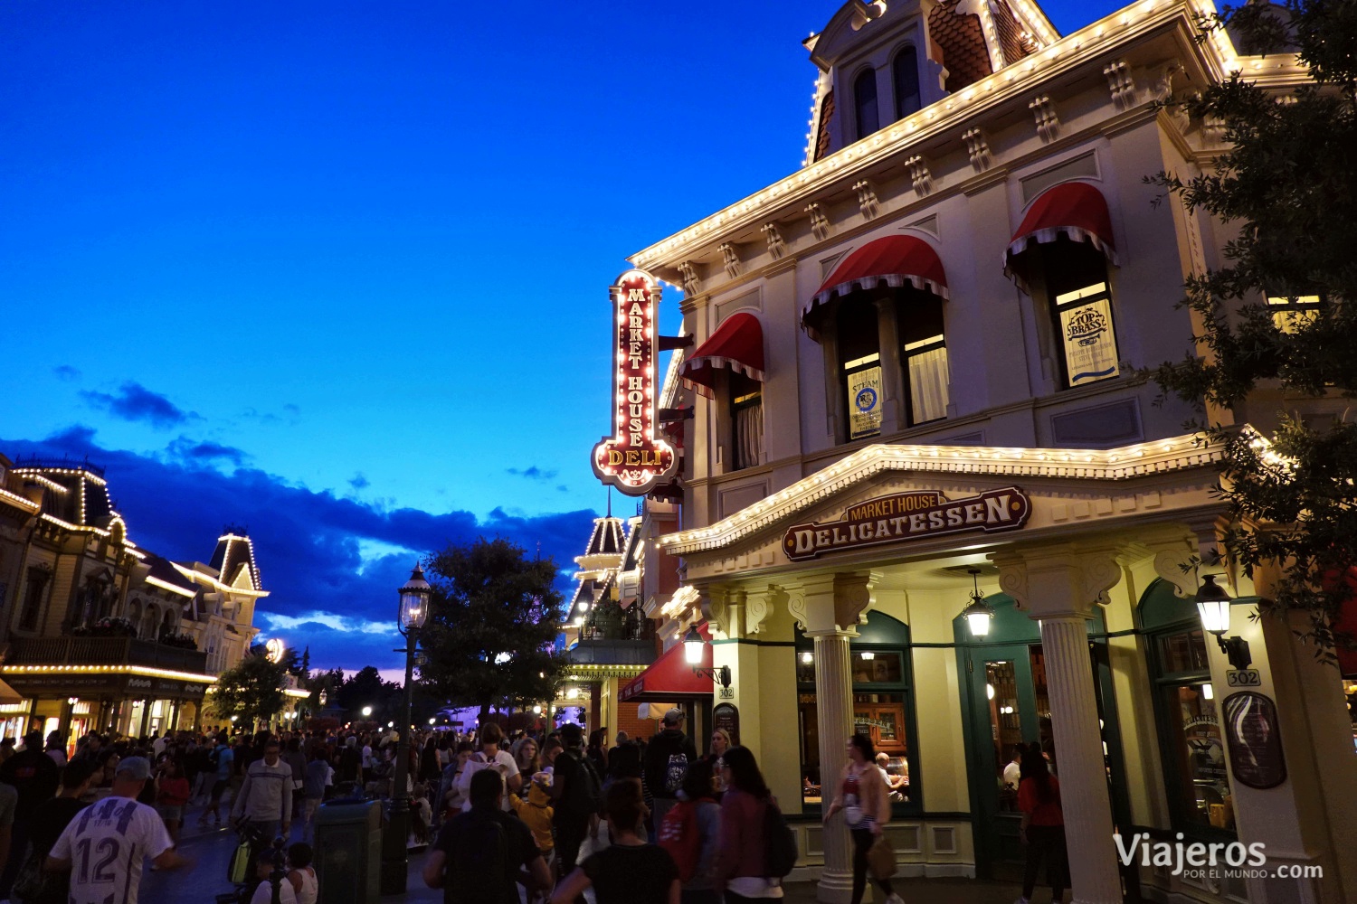
[[[1027,523],[1031,500],[1016,487],[949,500],[936,491],[882,496],[854,506],[836,522],[787,529],[783,552],[792,561],[844,549],[982,530],[992,534]]]

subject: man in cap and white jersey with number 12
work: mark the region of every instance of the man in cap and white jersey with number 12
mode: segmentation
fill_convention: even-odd
[[[149,777],[144,756],[119,762],[113,794],[80,810],[52,846],[45,869],[71,870],[69,904],[137,904],[147,857],[161,870],[187,863],[155,808],[137,802]]]

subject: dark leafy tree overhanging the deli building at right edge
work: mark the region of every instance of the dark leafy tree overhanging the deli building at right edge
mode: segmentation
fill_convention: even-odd
[[[1346,411],[1303,419],[1285,398],[1357,396],[1357,4],[1251,3],[1204,20],[1204,38],[1227,26],[1244,53],[1299,53],[1314,84],[1281,96],[1236,73],[1177,102],[1220,123],[1228,149],[1209,172],[1151,182],[1238,236],[1224,266],[1186,282],[1181,305],[1205,354],[1153,377],[1204,409],[1191,427],[1224,449],[1217,492],[1235,525],[1224,557],[1250,576],[1278,564],[1267,607],[1307,614],[1300,636],[1331,660],[1335,640],[1348,642],[1333,625],[1353,595],[1357,424]]]

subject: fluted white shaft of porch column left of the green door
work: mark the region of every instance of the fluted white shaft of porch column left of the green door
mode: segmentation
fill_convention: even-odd
[[[839,787],[848,754],[844,744],[852,735],[852,674],[848,659],[849,636],[817,632],[816,638],[816,721],[820,726],[820,796],[829,808]],[[852,897],[852,859],[848,827],[841,816],[824,827],[825,866],[816,900],[844,904]]]

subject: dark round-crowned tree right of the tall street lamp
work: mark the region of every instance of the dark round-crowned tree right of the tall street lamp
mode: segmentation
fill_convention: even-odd
[[[419,634],[419,678],[457,706],[525,706],[555,697],[565,661],[552,653],[563,598],[556,564],[508,539],[448,546],[426,562],[433,596]]]

